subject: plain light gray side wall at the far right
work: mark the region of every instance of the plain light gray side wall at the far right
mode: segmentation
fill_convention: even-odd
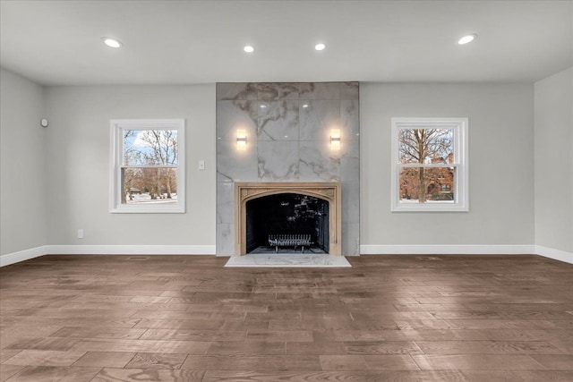
[[[535,83],[535,244],[573,253],[573,68]]]

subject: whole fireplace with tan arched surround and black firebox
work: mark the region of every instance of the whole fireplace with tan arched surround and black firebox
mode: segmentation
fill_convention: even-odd
[[[341,254],[340,183],[235,183],[235,255]]]

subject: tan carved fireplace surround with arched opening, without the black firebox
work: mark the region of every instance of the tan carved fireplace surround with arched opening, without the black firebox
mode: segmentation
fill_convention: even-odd
[[[329,202],[329,254],[341,254],[342,193],[339,182],[235,183],[235,256],[246,253],[246,202],[281,193],[308,195]]]

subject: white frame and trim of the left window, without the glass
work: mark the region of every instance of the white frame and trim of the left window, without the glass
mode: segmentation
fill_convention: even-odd
[[[127,214],[165,214],[185,212],[185,120],[112,119],[110,121],[109,212]],[[124,160],[124,130],[177,131],[177,201],[174,204],[122,204],[121,168]],[[138,166],[143,167],[143,166]]]

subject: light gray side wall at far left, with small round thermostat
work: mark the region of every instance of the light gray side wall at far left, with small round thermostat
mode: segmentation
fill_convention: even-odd
[[[47,243],[43,92],[0,70],[0,255]]]

